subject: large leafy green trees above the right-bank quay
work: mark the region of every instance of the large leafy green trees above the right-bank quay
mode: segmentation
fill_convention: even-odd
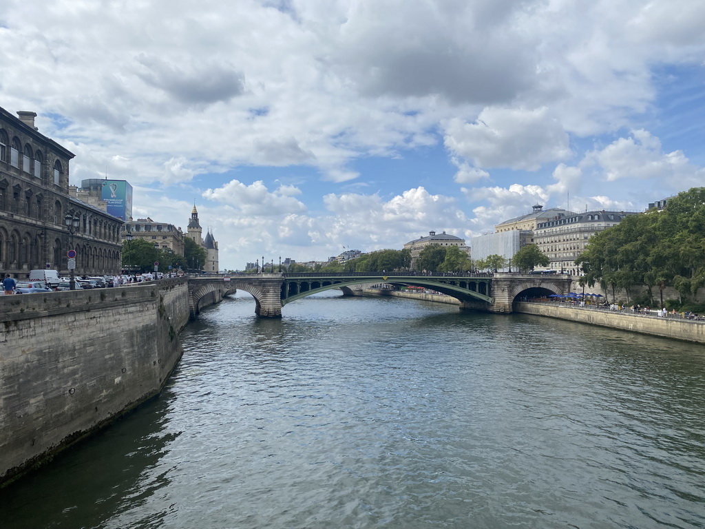
[[[575,260],[585,284],[625,291],[646,286],[649,298],[672,286],[685,303],[705,285],[705,188],[668,200],[666,209],[632,215],[592,236]],[[628,299],[627,299],[628,301]]]

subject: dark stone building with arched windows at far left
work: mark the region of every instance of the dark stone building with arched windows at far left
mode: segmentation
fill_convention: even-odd
[[[32,269],[68,275],[120,270],[122,221],[72,196],[74,154],[39,133],[35,112],[0,107],[0,271],[26,279]],[[68,225],[67,225],[68,222]]]

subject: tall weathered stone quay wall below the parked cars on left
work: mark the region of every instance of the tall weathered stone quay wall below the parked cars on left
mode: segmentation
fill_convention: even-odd
[[[0,485],[156,396],[188,320],[185,279],[0,296]]]

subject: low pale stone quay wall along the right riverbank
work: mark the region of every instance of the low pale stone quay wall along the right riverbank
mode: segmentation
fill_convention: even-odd
[[[592,310],[589,308],[568,307],[553,303],[515,303],[514,312],[548,316],[621,329],[623,331],[653,334],[665,338],[705,343],[705,322],[681,320],[676,317],[653,317],[615,312]]]

